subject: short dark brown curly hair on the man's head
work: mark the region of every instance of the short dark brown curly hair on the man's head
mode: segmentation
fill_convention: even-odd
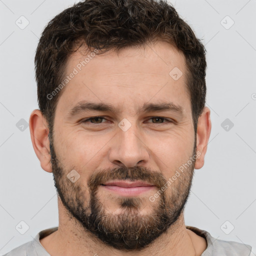
[[[80,46],[97,48],[100,54],[155,40],[174,45],[185,56],[186,86],[196,132],[205,104],[206,50],[166,0],[84,0],[49,21],[34,59],[38,105],[49,130],[53,129],[56,105],[63,89],[51,99],[47,95],[61,82],[68,57]]]

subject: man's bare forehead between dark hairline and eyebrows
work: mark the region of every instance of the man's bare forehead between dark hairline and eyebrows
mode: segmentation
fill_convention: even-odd
[[[184,55],[167,42],[99,55],[78,50],[68,58],[65,74],[58,103],[63,111],[84,99],[136,109],[159,100],[189,107]]]

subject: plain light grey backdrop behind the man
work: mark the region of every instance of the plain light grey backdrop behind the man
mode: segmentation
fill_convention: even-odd
[[[256,1],[171,2],[206,47],[206,102],[212,121],[205,164],[195,170],[185,223],[218,239],[250,244],[255,255]],[[0,0],[1,255],[58,225],[52,174],[40,167],[26,123],[38,108],[33,64],[38,38],[46,23],[73,3]],[[21,29],[26,20],[29,24]],[[24,234],[15,229],[20,221],[29,226]]]

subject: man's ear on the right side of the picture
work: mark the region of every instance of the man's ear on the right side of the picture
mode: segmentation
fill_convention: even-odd
[[[198,117],[197,130],[196,130],[196,151],[197,158],[195,160],[195,169],[200,169],[204,164],[204,155],[207,150],[207,144],[210,136],[211,121],[210,109],[204,107],[202,114]]]

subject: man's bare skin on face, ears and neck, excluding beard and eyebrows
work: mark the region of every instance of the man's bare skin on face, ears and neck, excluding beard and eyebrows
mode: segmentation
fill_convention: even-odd
[[[72,72],[83,59],[79,51],[72,54],[67,62],[66,74]],[[178,80],[169,75],[174,67],[178,67],[183,73]],[[80,178],[76,182],[86,185],[90,175],[99,169],[135,165],[150,167],[168,179],[180,165],[187,162],[193,151],[194,128],[185,72],[183,54],[172,45],[157,41],[145,48],[127,47],[118,54],[111,50],[96,55],[68,82],[56,107],[54,149],[65,169],[78,171]],[[120,111],[87,111],[68,118],[68,110],[84,99],[111,103]],[[139,112],[138,107],[148,101],[180,105],[183,116],[172,111]],[[105,119],[101,124],[79,122],[93,116],[103,116]],[[172,119],[174,122],[166,125],[156,121],[153,123],[150,119],[153,116]],[[117,125],[123,118],[131,123],[125,132]],[[40,110],[32,111],[29,128],[33,148],[42,169],[52,172],[49,130]],[[210,110],[204,107],[197,124],[196,151],[200,155],[195,160],[195,169],[204,164],[210,130]],[[155,188],[154,192],[156,191]],[[171,195],[170,191],[167,192]],[[114,197],[118,195],[113,196],[112,191],[102,188],[98,193],[109,212],[120,213]],[[152,191],[145,193],[145,197],[152,195]],[[86,195],[89,196],[88,191]],[[143,203],[141,213],[147,214],[152,203],[149,200],[144,200]],[[119,251],[92,237],[76,219],[69,218],[59,197],[58,211],[58,230],[40,239],[42,246],[52,256],[95,253],[99,256],[194,256],[201,255],[207,246],[204,238],[186,229],[183,212],[173,226],[148,247],[141,251]]]

